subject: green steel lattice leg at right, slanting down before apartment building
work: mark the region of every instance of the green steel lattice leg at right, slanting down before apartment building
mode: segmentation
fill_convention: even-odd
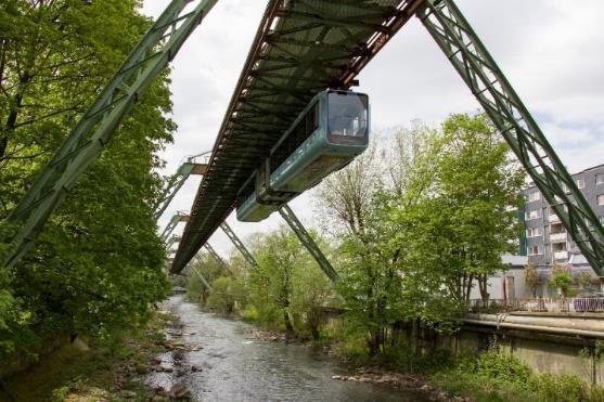
[[[452,0],[426,0],[416,15],[604,278],[604,228],[461,11]]]

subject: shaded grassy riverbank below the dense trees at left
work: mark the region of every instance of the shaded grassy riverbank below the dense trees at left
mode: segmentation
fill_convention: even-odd
[[[156,366],[155,356],[174,347],[164,335],[172,320],[167,312],[155,312],[146,327],[110,345],[89,347],[80,339],[64,345],[34,366],[1,380],[0,401],[152,400],[157,390],[145,385],[144,376]]]

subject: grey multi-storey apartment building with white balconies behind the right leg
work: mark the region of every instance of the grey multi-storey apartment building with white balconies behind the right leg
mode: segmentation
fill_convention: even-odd
[[[573,174],[577,186],[604,223],[604,165]],[[525,190],[526,251],[529,262],[538,268],[553,263],[576,270],[587,270],[589,264],[571,236],[566,233],[558,217],[536,186]]]

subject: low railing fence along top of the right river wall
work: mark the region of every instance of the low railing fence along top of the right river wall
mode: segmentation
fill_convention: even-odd
[[[539,299],[492,299],[485,302],[481,299],[470,301],[473,312],[604,312],[604,298],[602,297],[574,297],[574,298],[539,298]]]

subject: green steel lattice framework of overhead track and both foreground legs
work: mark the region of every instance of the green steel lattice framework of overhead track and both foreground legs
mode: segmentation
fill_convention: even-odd
[[[197,5],[184,13],[185,5],[193,2]],[[5,267],[23,256],[78,177],[112,140],[123,117],[216,2],[169,3],[8,217],[21,231],[13,239]],[[219,225],[232,234],[231,241],[255,265],[252,255],[223,223],[243,182],[316,92],[348,89],[413,15],[422,21],[483,105],[589,263],[604,277],[604,228],[452,0],[270,0],[219,130],[171,272],[180,272]],[[180,182],[181,176],[175,182]]]

